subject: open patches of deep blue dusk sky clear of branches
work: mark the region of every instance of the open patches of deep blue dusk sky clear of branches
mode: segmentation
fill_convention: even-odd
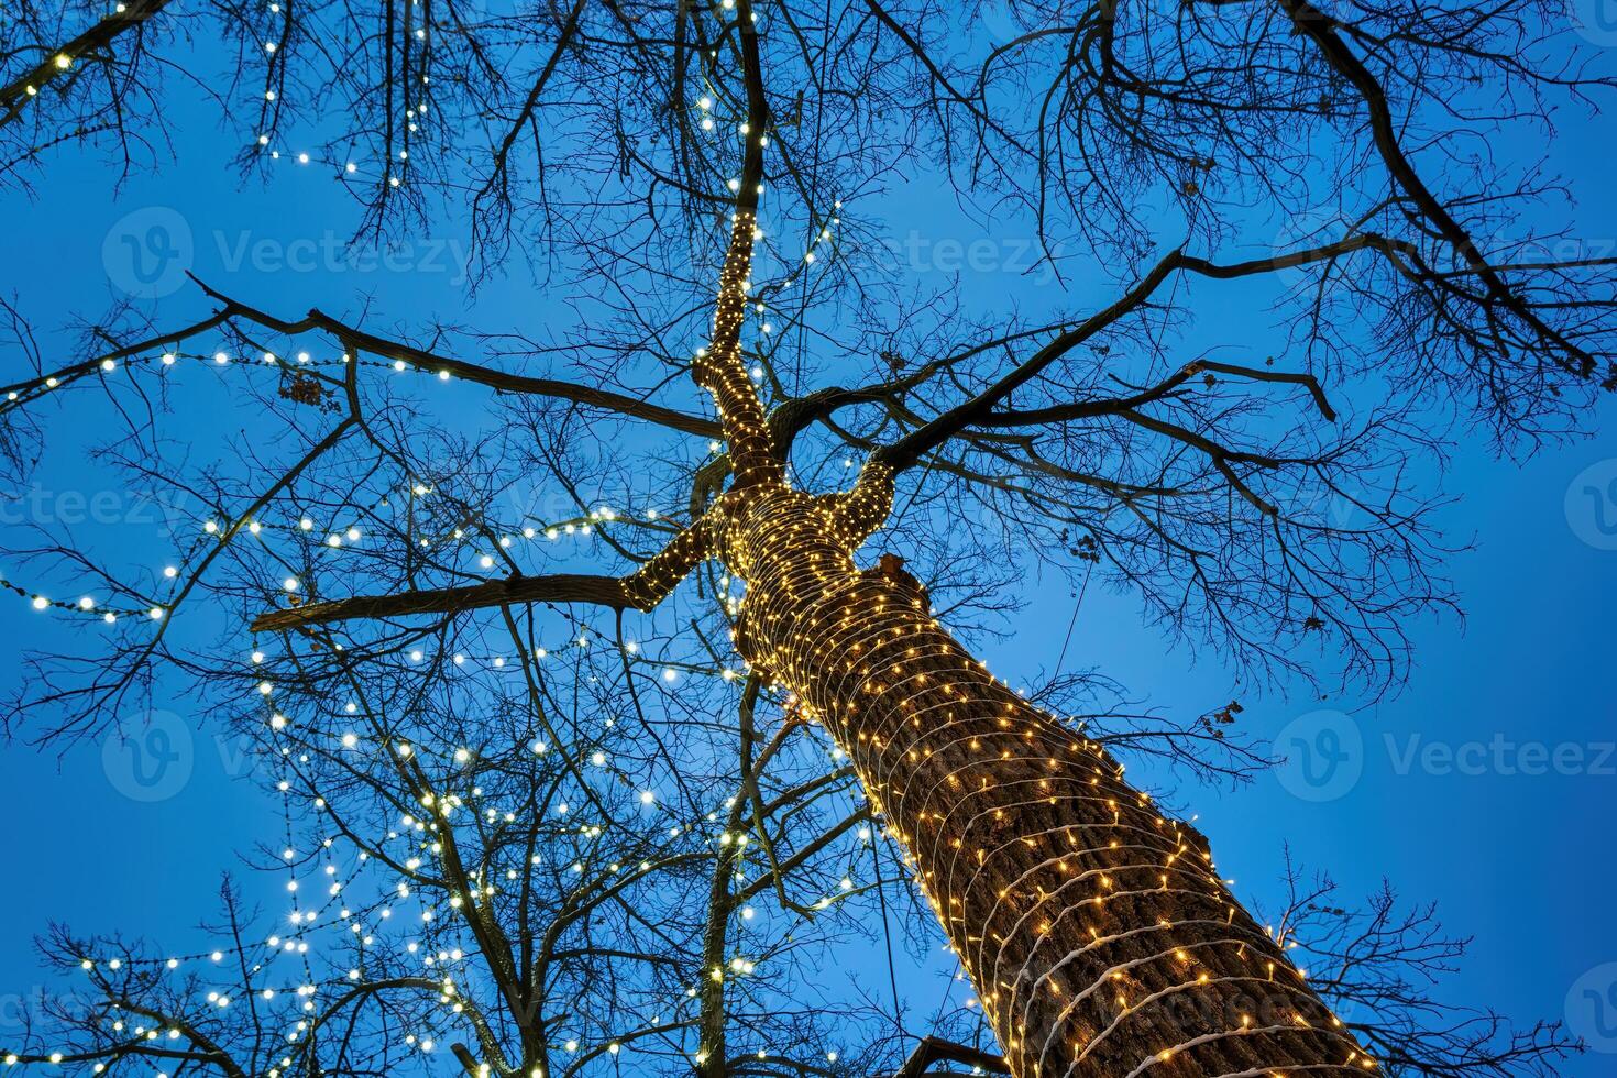
[[[1599,60],[1617,71],[1617,50]],[[487,330],[532,330],[548,304],[559,302],[559,289],[538,293],[522,270],[471,294],[458,272],[466,239],[453,221],[429,229],[430,257],[425,249],[393,265],[327,257],[357,220],[328,170],[288,160],[268,183],[244,184],[230,163],[234,137],[201,102],[188,100],[183,84],[171,89],[176,154],[155,173],[115,184],[99,160],[66,154],[49,162],[49,179],[32,197],[0,196],[13,252],[5,286],[34,320],[49,365],[79,357],[63,326],[74,314],[95,317],[118,297],[128,275],[118,254],[120,221],[152,207],[179,213],[201,278],[278,314],[315,304],[356,312],[369,304],[377,325],[430,315]],[[1551,208],[1570,215],[1572,234],[1593,254],[1611,254],[1617,246],[1611,126],[1573,112],[1559,120],[1551,162],[1577,204]],[[1541,149],[1528,142],[1535,136],[1522,137],[1523,154]],[[1496,144],[1494,152],[1509,157],[1512,147]],[[939,254],[951,249],[938,242],[991,239],[993,257],[959,267],[978,310],[1033,307],[1061,288],[1015,273],[1014,228],[973,223],[936,176],[893,184],[863,212],[899,247],[915,238],[912,249],[935,252],[912,259],[914,270],[935,281],[954,270]],[[251,254],[259,241],[285,251],[304,241],[298,249],[312,260],[267,262]],[[1103,302],[1093,294],[1103,286],[1082,272],[1066,286],[1067,302]],[[1200,304],[1193,339],[1253,347],[1273,339],[1261,297],[1234,289],[1224,296],[1227,302]],[[204,309],[188,289],[157,304],[168,323]],[[6,381],[26,373],[15,352],[0,356],[0,364]],[[94,498],[105,493],[105,477],[81,453],[87,432],[60,420],[49,425],[39,472],[21,490],[5,491],[6,524],[18,512],[92,514]],[[1434,462],[1431,472],[1428,486],[1439,480]],[[1289,763],[1237,789],[1177,787],[1177,803],[1200,815],[1198,826],[1237,889],[1273,908],[1289,844],[1297,861],[1339,881],[1344,900],[1386,878],[1410,902],[1436,902],[1450,933],[1475,936],[1463,970],[1441,989],[1446,999],[1486,1004],[1523,1023],[1567,1018],[1594,1051],[1567,1063],[1565,1073],[1612,1075],[1617,440],[1568,440],[1507,461],[1496,459],[1483,438],[1462,440],[1441,483],[1457,496],[1442,512],[1450,540],[1475,540],[1475,550],[1449,566],[1465,619],[1412,627],[1415,666],[1407,687],[1387,700],[1319,701],[1300,684],[1290,692],[1237,688],[1216,656],[1171,646],[1140,627],[1134,598],[1101,588],[1083,600],[1066,664],[1095,667],[1172,716],[1239,697],[1245,729],[1277,739]],[[160,551],[160,512],[131,509],[116,490],[107,496],[116,506],[108,527]],[[32,509],[23,503],[27,498]],[[988,648],[994,669],[1012,684],[1054,667],[1074,614],[1059,582],[1027,580],[1017,598],[1014,638]],[[49,617],[26,600],[0,595],[0,638],[8,642],[0,677],[16,684],[24,676],[21,650],[49,642],[52,632]],[[171,705],[176,713],[184,708],[181,698]],[[23,743],[6,748],[0,789],[13,805],[13,826],[5,844],[11,886],[0,897],[0,1036],[16,1023],[19,1002],[45,984],[31,939],[49,921],[183,941],[213,912],[220,871],[236,866],[236,850],[278,826],[273,803],[243,761],[241,747],[197,735],[183,787],[142,802],[120,789],[126,781],[115,768],[103,766],[100,742],[65,755]],[[1150,768],[1143,784],[1151,787]]]

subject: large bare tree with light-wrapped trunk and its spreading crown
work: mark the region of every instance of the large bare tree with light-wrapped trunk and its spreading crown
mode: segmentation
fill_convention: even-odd
[[[191,325],[102,326],[110,349],[8,386],[16,461],[29,456],[31,407],[78,388],[112,399],[139,393],[141,378],[210,362],[213,346],[202,341],[225,343],[223,367],[252,357],[275,378],[281,404],[267,391],[255,401],[299,414],[286,428],[291,462],[272,469],[273,480],[254,472],[186,480],[213,516],[173,583],[118,579],[68,537],[27,551],[112,592],[82,609],[60,606],[112,617],[123,645],[92,666],[42,659],[37,692],[16,714],[49,703],[63,716],[53,732],[100,729],[160,663],[220,684],[251,677],[281,706],[281,693],[340,684],[362,663],[378,671],[393,663],[396,676],[398,656],[422,638],[440,642],[433,661],[441,663],[454,655],[443,638],[462,624],[503,624],[527,669],[537,643],[519,622],[534,604],[595,606],[621,625],[631,611],[665,611],[684,579],[716,564],[723,575],[703,596],[718,601],[686,646],[718,663],[733,648],[745,663],[747,708],[763,685],[778,687],[789,726],[808,721],[831,735],[975,984],[1011,1073],[1362,1073],[1387,1057],[1421,1073],[1421,1052],[1384,1052],[1392,1038],[1350,1030],[1332,1013],[1286,941],[1229,892],[1206,839],[1130,785],[1104,737],[1024,700],[944,629],[938,596],[959,582],[923,585],[906,564],[964,546],[957,556],[975,562],[965,587],[977,587],[988,540],[949,528],[983,517],[969,511],[977,504],[1014,556],[1046,559],[1075,580],[1100,566],[1138,590],[1146,619],[1222,646],[1258,676],[1307,669],[1308,648],[1349,684],[1395,685],[1408,621],[1452,603],[1434,569],[1442,548],[1428,524],[1433,503],[1405,488],[1410,462],[1441,451],[1434,432],[1444,422],[1483,423],[1501,444],[1520,444],[1590,422],[1596,394],[1617,386],[1614,260],[1544,255],[1546,238],[1530,229],[1491,236],[1541,192],[1538,181],[1489,175],[1488,162],[1476,162],[1471,189],[1439,194],[1410,147],[1434,118],[1465,124],[1489,108],[1547,121],[1547,95],[1583,99],[1609,82],[1564,53],[1541,55],[1552,39],[1541,36],[1544,10],[1533,3],[1441,13],[1370,5],[1345,15],[1298,0],[1172,11],[1104,3],[1015,13],[1024,31],[965,66],[939,60],[952,39],[923,5],[870,2],[828,15],[791,5],[755,11],[747,0],[632,11],[581,3],[540,21],[555,36],[526,92],[488,71],[485,34],[498,21],[462,26],[451,55],[482,65],[485,78],[456,81],[448,103],[475,121],[469,142],[495,136],[471,165],[480,183],[469,226],[498,257],[514,221],[537,221],[545,236],[568,241],[574,278],[605,284],[606,299],[590,304],[581,336],[551,344],[445,328],[425,339],[383,336],[322,310],[289,320],[205,289],[215,310]],[[315,37],[309,24],[304,34]],[[395,37],[385,40],[391,47]],[[445,108],[432,100],[427,110],[412,95],[427,78],[417,71],[407,60],[388,63],[374,87],[353,94],[356,102],[374,100],[375,87],[388,95],[380,110],[388,165],[372,175],[372,228],[390,226],[390,192],[411,189],[419,204],[424,191],[453,186],[433,184],[453,168],[456,123],[435,128],[445,139],[438,154],[412,150],[407,173],[395,163],[401,105],[404,129]],[[692,102],[697,79],[703,92]],[[606,116],[600,129],[581,131],[555,113],[542,123],[542,103],[559,86],[585,113]],[[812,92],[787,89],[796,86]],[[357,108],[344,120],[354,129],[374,123]],[[739,154],[703,134],[713,128],[739,131]],[[513,152],[529,129],[543,168],[535,166],[538,194],[524,202]],[[540,133],[568,152],[545,150]],[[868,280],[859,226],[844,221],[842,207],[860,170],[880,170],[886,150],[914,147],[920,133],[962,191],[998,192],[1038,223],[1053,267],[1067,267],[1069,238],[1109,259],[1119,268],[1116,296],[1087,312],[985,326],[951,310],[948,294],[906,299],[899,284]],[[1315,136],[1332,141],[1328,155],[1292,149]],[[422,155],[425,166],[416,163]],[[1164,192],[1169,207],[1140,213],[1142,189]],[[766,191],[787,192],[770,221],[760,217]],[[1248,223],[1253,199],[1294,218],[1321,200],[1337,213],[1277,252],[1219,257],[1216,247]],[[524,205],[529,217],[516,213]],[[805,236],[802,249],[781,257],[779,272],[760,272],[758,244],[792,233]],[[1159,233],[1184,242],[1163,251]],[[1284,360],[1232,362],[1211,349],[1169,356],[1164,331],[1184,326],[1180,293],[1205,299],[1219,283],[1277,273],[1298,275]],[[708,312],[711,325],[700,325]],[[1363,339],[1344,330],[1347,314],[1353,325],[1366,314],[1379,322]],[[821,385],[810,333],[860,356],[860,380]],[[689,338],[700,346],[684,347]],[[524,359],[574,347],[590,377],[454,359],[467,341]],[[322,346],[328,359],[315,359]],[[663,378],[637,377],[647,357]],[[386,367],[474,383],[513,402],[490,433],[458,443],[370,385]],[[653,401],[647,381],[676,373],[702,398]],[[602,414],[711,440],[707,459],[674,465],[657,483],[665,506],[681,491],[679,512],[642,503],[632,514],[587,514],[585,491],[619,464],[611,451],[592,461],[568,438],[582,415]],[[146,459],[155,449],[149,430],[147,420],[129,420],[120,454],[150,482],[179,485]],[[852,488],[826,482],[826,465],[854,456],[862,465]],[[492,499],[524,469],[555,477],[585,511],[571,525],[597,530],[624,572],[524,569],[511,553],[516,528],[488,519]],[[918,519],[904,520],[909,532],[894,527],[901,485],[906,506],[922,504]],[[1334,522],[1332,499],[1366,524]],[[341,528],[317,533],[340,516],[362,519],[357,551]],[[254,543],[265,528],[285,528],[285,551]],[[904,554],[860,569],[855,554],[884,528]],[[910,538],[927,532],[920,543]],[[340,571],[328,551],[344,551]],[[251,674],[225,656],[181,656],[170,625],[204,596],[255,606],[254,632],[275,634],[281,653]],[[149,614],[147,624],[129,613]],[[623,653],[629,643],[619,640]],[[624,659],[623,685],[634,684]],[[631,700],[639,711],[639,697]],[[538,713],[532,701],[526,710]],[[296,726],[278,714],[277,732]],[[441,829],[440,784],[393,760],[406,747],[414,760],[417,739],[399,740],[386,726],[370,739],[388,750],[388,789],[407,792],[401,803],[438,805],[432,823]],[[749,732],[741,745],[745,797],[728,806],[726,834],[749,826],[758,834],[766,879],[792,908],[791,858],[775,850],[771,802],[757,787],[776,742]],[[661,747],[658,758],[678,774],[681,752]],[[530,784],[542,774],[509,771]],[[432,853],[453,860],[450,847]],[[734,894],[723,894],[723,881],[734,857],[716,855],[708,958],[726,949],[720,926]],[[451,871],[440,886],[471,905],[466,928],[483,933],[485,963],[509,968],[509,996],[532,963],[501,957],[488,934],[500,916],[479,918],[480,881]],[[65,941],[58,950],[84,949]],[[508,1000],[508,1012],[529,1004]],[[697,1021],[700,1073],[739,1073],[724,1051],[729,1023],[721,1004]],[[480,1038],[467,1067],[545,1067],[547,1030],[516,1026]],[[513,1036],[519,1052],[500,1047]],[[1520,1051],[1460,1055],[1486,1073],[1560,1047],[1547,1031],[1528,1034]],[[204,1055],[213,1060],[205,1044]]]

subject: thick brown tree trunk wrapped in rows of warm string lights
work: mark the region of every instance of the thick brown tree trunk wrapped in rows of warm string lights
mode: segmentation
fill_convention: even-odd
[[[781,486],[733,503],[720,550],[747,582],[736,643],[852,758],[1011,1072],[1371,1070],[1195,829],[996,682],[904,574],[854,566],[857,498]]]

